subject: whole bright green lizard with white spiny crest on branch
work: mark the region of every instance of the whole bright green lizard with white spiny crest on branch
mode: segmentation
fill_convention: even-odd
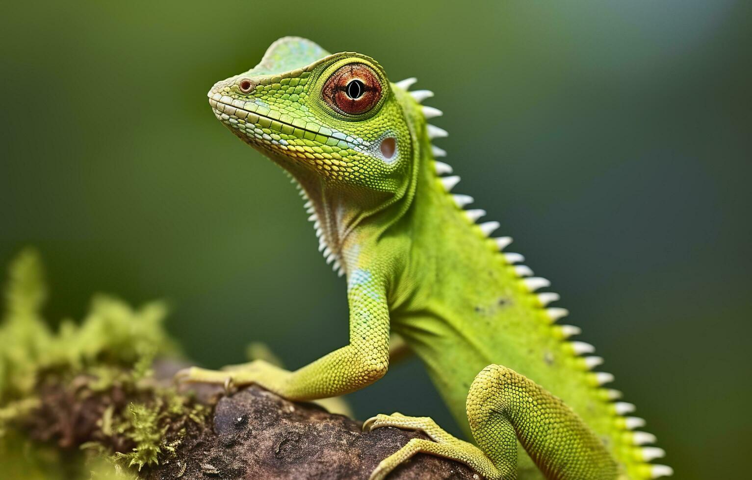
[[[320,249],[347,275],[350,343],[290,372],[263,361],[232,370],[192,368],[190,382],[256,383],[291,400],[333,397],[384,376],[390,332],[423,360],[473,445],[430,418],[378,415],[364,428],[423,430],[383,460],[384,478],[423,452],[468,464],[487,478],[656,478],[663,450],[635,431],[644,421],[603,388],[613,376],[580,330],[555,322],[559,296],[547,280],[502,252],[498,222],[477,224],[472,198],[436,158],[447,132],[427,120],[427,90],[414,78],[390,83],[359,53],[331,55],[302,38],[282,38],[255,68],[208,93],[217,119],[289,172],[307,199]],[[479,373],[480,372],[480,373]],[[469,392],[469,393],[468,393]],[[466,415],[466,417],[465,417]],[[466,418],[466,421],[465,421]],[[521,445],[523,448],[518,448]]]

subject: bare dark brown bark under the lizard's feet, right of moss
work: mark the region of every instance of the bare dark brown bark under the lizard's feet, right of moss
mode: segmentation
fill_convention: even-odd
[[[213,425],[186,439],[177,458],[146,478],[368,478],[378,463],[422,434],[395,428],[362,432],[361,423],[310,403],[293,403],[251,387],[217,403]],[[477,479],[468,467],[416,455],[390,480]]]

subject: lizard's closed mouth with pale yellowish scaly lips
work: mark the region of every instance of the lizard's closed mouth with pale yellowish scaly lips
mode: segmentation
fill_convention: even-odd
[[[252,101],[241,101],[212,92],[209,92],[208,97],[209,104],[217,119],[229,124],[228,126],[233,130],[239,130],[238,133],[243,131],[247,137],[252,137],[262,143],[287,146],[288,142],[284,138],[287,137],[288,140],[307,138],[341,149],[353,149],[362,146],[358,139],[341,131],[332,131],[314,122],[305,122],[302,119],[285,121],[280,118],[281,115],[277,111],[270,110],[268,107]]]

